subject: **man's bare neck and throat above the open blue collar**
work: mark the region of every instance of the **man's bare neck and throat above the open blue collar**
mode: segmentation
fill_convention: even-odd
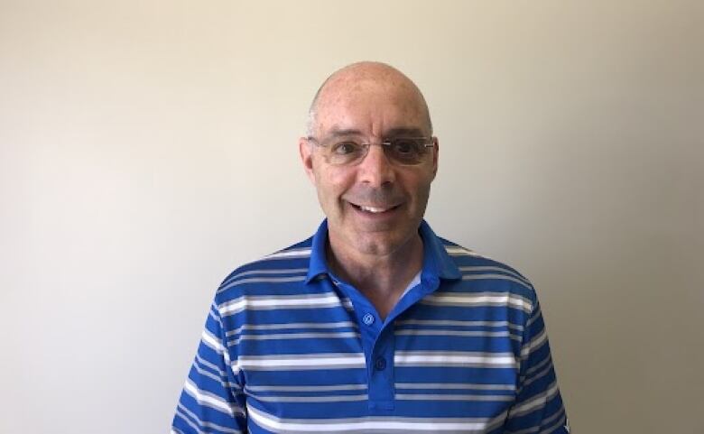
[[[374,305],[385,319],[403,291],[421,271],[423,243],[421,235],[389,254],[366,254],[340,248],[329,238],[328,263],[343,280],[351,283]]]

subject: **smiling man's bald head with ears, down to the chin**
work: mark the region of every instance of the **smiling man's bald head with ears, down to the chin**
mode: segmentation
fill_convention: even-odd
[[[397,69],[360,62],[323,83],[310,107],[308,137],[301,137],[299,147],[328,217],[333,248],[394,254],[417,238],[438,169],[438,143],[431,134],[421,91]],[[385,141],[395,144],[376,145]],[[371,144],[350,162],[345,154],[354,146],[344,143]],[[427,146],[408,152],[408,143]]]

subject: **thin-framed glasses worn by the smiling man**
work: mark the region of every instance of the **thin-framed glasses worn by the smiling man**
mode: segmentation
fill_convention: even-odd
[[[320,146],[325,159],[336,166],[354,166],[362,162],[372,144],[362,143],[355,139],[334,137],[325,142],[319,142],[315,137],[306,140]],[[384,149],[384,155],[390,162],[402,166],[421,164],[429,149],[435,146],[435,137],[393,137],[378,143]]]

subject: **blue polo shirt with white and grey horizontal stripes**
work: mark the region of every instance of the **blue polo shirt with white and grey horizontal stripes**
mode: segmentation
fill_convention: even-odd
[[[436,236],[387,318],[328,268],[328,226],[219,287],[171,433],[566,433],[533,286]]]

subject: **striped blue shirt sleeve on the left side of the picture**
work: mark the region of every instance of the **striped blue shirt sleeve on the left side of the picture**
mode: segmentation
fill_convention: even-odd
[[[171,434],[247,432],[245,395],[230,361],[223,321],[213,303],[176,407]]]

